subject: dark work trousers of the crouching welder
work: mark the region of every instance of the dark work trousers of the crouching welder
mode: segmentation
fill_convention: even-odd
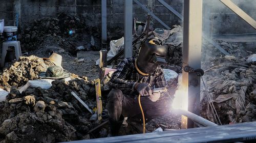
[[[170,101],[161,97],[158,101],[152,102],[147,96],[141,96],[140,101],[146,122],[165,115],[171,107]],[[108,96],[106,108],[108,109],[109,117],[114,121],[119,121],[122,115],[123,117],[128,117],[130,121],[142,123],[138,97],[135,99],[129,98],[124,96],[121,90],[112,89]]]

